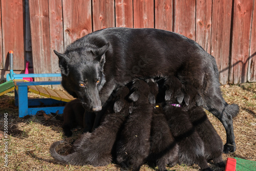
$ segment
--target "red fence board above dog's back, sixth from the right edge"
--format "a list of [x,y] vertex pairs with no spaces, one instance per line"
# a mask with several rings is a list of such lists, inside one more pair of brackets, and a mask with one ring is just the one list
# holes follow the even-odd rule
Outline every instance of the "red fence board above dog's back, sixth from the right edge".
[[173,31],[173,0],[155,0],[155,28]]

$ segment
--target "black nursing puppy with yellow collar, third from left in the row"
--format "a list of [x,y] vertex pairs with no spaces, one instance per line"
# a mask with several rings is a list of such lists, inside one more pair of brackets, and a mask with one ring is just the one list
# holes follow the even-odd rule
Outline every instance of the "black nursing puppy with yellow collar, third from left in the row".
[[[147,84],[151,88],[151,93],[157,98],[158,84],[154,80],[148,80]],[[162,88],[160,88],[162,89]],[[155,105],[155,104],[153,104]],[[151,147],[147,162],[156,163],[160,171],[166,170],[166,165],[174,166],[178,162],[178,144],[168,126],[161,106],[155,106],[151,122]]]

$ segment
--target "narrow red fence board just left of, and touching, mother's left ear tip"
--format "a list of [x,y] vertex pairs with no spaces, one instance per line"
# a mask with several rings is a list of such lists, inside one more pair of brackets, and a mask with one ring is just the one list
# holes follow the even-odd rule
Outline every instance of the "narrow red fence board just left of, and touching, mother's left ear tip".
[[[62,3],[61,0],[49,1],[49,24],[50,24],[50,52],[52,73],[60,73],[58,57],[53,50],[62,53],[64,51]],[[60,80],[60,77],[52,80]]]

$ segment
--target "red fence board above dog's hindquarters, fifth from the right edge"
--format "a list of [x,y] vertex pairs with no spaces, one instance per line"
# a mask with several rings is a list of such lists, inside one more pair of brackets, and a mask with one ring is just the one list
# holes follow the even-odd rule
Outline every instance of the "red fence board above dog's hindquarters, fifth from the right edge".
[[174,1],[174,31],[190,39],[196,39],[196,0]]

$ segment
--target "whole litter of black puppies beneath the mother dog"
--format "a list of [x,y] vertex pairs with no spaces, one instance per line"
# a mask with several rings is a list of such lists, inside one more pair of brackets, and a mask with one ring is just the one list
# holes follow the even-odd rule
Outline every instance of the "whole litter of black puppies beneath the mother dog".
[[[60,141],[51,145],[50,153],[56,161],[93,166],[114,162],[132,170],[148,163],[162,171],[166,165],[176,164],[198,164],[203,170],[211,170],[207,161],[212,160],[225,167],[223,142],[192,85],[181,83],[175,76],[134,79],[112,94],[99,126],[83,133],[74,142],[71,154],[63,156],[55,151]],[[77,121],[85,111],[77,100],[68,103],[65,111],[62,127],[65,135],[71,136],[72,127],[81,124]],[[72,120],[72,116],[80,119]]]

